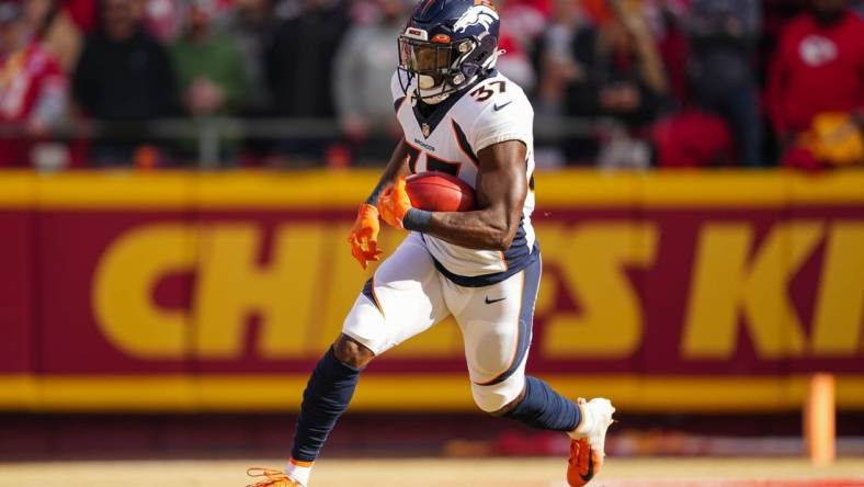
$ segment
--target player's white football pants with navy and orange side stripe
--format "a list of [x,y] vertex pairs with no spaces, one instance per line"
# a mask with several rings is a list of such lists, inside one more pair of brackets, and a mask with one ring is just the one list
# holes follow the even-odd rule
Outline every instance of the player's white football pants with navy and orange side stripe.
[[380,355],[453,315],[475,403],[494,412],[525,387],[541,267],[538,258],[497,284],[463,287],[435,269],[422,237],[411,233],[366,283],[342,332]]

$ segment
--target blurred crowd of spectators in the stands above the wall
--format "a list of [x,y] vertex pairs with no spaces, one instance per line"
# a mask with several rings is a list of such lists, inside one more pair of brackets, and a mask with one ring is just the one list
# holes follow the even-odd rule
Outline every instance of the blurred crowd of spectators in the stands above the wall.
[[[534,101],[539,166],[864,166],[864,1],[497,5],[498,68]],[[154,122],[224,118],[331,121],[241,131],[218,141],[224,165],[384,163],[412,8],[0,0],[0,168],[196,165],[200,139]]]

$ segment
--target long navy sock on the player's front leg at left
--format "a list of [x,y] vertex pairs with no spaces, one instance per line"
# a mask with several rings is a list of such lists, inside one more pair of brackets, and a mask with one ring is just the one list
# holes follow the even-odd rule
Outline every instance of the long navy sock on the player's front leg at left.
[[337,419],[348,409],[360,372],[360,369],[337,359],[330,347],[315,367],[303,393],[292,457],[300,462],[315,462]]

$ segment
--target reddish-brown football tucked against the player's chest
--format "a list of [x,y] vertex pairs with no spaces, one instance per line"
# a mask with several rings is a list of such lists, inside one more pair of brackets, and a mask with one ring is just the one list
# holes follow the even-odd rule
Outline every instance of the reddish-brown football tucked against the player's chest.
[[429,212],[467,212],[475,208],[474,188],[445,172],[421,172],[406,180],[405,190],[416,208]]

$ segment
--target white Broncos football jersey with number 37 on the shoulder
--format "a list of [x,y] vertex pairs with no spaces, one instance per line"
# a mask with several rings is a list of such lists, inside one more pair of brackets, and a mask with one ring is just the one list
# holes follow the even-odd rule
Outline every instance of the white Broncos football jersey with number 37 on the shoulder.
[[407,94],[391,80],[396,116],[405,133],[411,173],[440,171],[476,188],[477,152],[493,144],[521,140],[527,148],[528,194],[516,236],[505,252],[477,250],[423,235],[439,271],[456,284],[482,286],[503,281],[537,258],[531,213],[534,211],[534,110],[516,83],[497,71],[468,90],[451,94],[431,116],[416,107],[413,86]]

